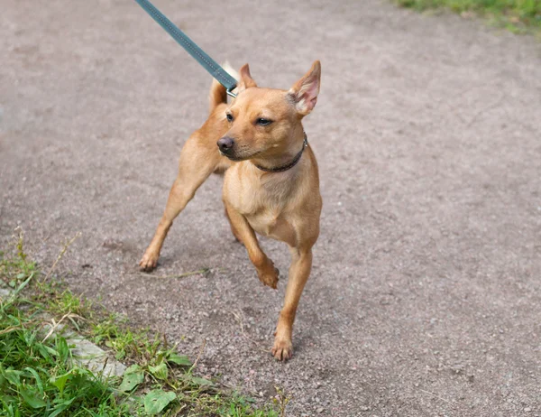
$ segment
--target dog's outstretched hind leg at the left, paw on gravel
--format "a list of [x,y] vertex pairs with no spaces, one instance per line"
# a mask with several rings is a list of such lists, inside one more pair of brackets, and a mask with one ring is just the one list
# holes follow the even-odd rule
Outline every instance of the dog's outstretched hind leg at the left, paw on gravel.
[[[192,134],[180,153],[179,175],[170,190],[165,211],[152,238],[151,244],[142,255],[139,266],[151,271],[158,264],[161,246],[173,220],[194,197],[199,186],[214,171],[220,171],[225,158],[220,156],[215,143],[209,144],[198,132]],[[224,169],[226,167],[223,167]]]

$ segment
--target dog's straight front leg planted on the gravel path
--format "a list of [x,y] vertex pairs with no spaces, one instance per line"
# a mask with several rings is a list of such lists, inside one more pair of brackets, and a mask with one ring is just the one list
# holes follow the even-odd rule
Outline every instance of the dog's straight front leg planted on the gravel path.
[[284,307],[280,311],[280,318],[274,334],[274,346],[272,347],[272,355],[278,360],[286,360],[293,355],[293,344],[291,342],[293,321],[295,321],[300,294],[302,294],[312,269],[311,248],[299,250],[292,247],[290,252],[292,259],[291,266],[289,266],[286,299]]

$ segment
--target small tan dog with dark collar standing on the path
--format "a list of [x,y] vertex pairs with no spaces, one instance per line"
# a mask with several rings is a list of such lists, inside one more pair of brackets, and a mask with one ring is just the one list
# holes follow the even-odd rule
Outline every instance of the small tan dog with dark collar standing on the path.
[[173,219],[211,173],[225,171],[225,214],[261,283],[276,289],[279,272],[261,251],[254,231],[289,245],[289,282],[272,347],[279,360],[289,359],[293,352],[293,321],[319,235],[317,163],[301,121],[316,106],[320,76],[316,61],[289,91],[258,88],[246,64],[231,105],[225,88],[213,83],[210,116],[182,148],[179,176],[140,262],[146,271],[156,266]]

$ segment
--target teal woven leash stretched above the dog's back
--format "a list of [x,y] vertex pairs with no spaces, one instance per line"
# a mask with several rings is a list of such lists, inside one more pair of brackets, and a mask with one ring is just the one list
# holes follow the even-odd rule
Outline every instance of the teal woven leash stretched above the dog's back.
[[179,43],[201,66],[207,70],[220,84],[225,87],[227,95],[236,97],[233,90],[236,87],[236,79],[234,79],[227,71],[220,67],[215,60],[206,55],[205,51],[197,46],[195,42],[188,38],[186,33],[182,32],[175,24],[173,24],[165,15],[161,14],[154,5],[148,0],[135,0],[151,15],[160,26],[168,32],[171,37]]

